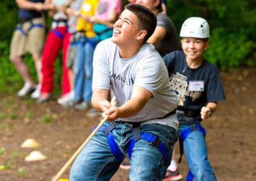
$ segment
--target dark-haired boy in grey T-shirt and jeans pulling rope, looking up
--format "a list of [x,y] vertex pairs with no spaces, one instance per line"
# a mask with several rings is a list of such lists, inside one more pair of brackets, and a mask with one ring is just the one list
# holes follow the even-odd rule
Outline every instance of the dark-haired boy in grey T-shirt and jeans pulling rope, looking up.
[[[70,181],[110,180],[124,157],[130,157],[130,180],[162,180],[179,126],[178,98],[166,66],[147,43],[156,15],[140,4],[128,4],[93,55],[92,106],[106,118],[76,157]],[[116,105],[108,101],[109,91]]]

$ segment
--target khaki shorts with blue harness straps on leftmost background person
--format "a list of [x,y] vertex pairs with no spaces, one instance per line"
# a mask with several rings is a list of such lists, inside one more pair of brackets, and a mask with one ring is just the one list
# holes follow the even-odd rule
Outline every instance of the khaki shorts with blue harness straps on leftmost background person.
[[[32,24],[41,24],[42,27],[31,27]],[[22,29],[22,31],[20,31]],[[44,18],[34,18],[23,24],[18,24],[15,29],[10,45],[10,59],[20,57],[29,52],[31,54],[41,54],[45,40],[45,20]]]

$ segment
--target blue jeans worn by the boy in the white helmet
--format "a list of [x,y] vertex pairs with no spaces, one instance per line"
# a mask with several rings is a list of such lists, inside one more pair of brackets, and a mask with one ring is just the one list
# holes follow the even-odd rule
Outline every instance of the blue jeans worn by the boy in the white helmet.
[[[191,124],[180,124],[178,134],[180,135],[182,130],[189,126]],[[207,158],[207,146],[202,131],[192,131],[184,140],[183,145],[188,168],[196,180],[217,180]]]

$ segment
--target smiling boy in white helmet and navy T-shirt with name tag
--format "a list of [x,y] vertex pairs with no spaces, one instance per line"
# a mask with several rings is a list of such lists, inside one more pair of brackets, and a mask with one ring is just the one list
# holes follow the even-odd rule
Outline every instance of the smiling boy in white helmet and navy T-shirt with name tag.
[[178,134],[189,167],[187,180],[216,180],[200,124],[211,117],[217,102],[225,99],[218,69],[203,57],[209,47],[209,24],[204,18],[190,17],[183,23],[180,37],[183,51],[171,52],[163,59],[179,97]]

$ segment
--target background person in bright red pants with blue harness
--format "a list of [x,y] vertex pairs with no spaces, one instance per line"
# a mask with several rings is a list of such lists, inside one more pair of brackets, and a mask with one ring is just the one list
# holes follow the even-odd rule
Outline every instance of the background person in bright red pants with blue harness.
[[54,89],[54,62],[62,48],[62,96],[70,92],[68,80],[68,69],[66,65],[67,47],[71,34],[68,33],[65,9],[72,3],[70,0],[47,0],[45,6],[49,15],[53,18],[51,30],[47,34],[44,49],[42,52],[42,87],[38,102],[49,101],[52,99]]

